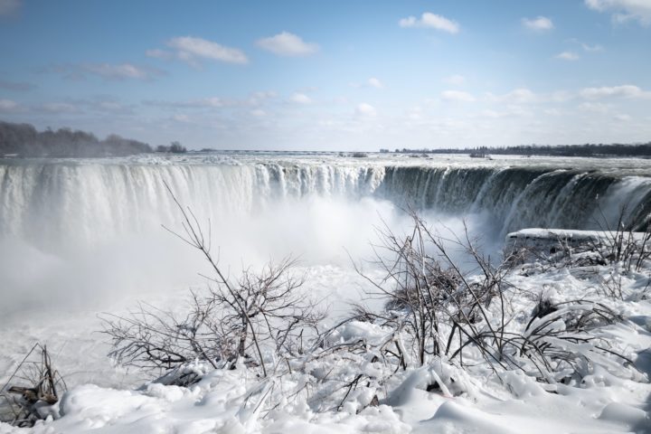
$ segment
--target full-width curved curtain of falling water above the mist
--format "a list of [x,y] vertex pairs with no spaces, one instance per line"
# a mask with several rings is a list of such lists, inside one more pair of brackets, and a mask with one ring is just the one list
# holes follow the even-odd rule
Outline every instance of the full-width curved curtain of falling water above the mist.
[[481,212],[502,235],[525,227],[595,229],[601,213],[612,222],[625,203],[632,225],[651,212],[646,176],[546,166],[18,161],[0,164],[0,236],[48,246],[159,227],[178,216],[165,183],[213,222],[311,197],[371,197],[455,216]]

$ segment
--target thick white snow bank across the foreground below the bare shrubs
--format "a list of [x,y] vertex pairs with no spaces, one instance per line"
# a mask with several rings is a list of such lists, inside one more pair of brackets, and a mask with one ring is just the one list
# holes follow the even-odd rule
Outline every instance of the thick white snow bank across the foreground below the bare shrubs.
[[[509,234],[514,242],[547,246],[559,240],[591,243],[602,236],[593,231],[540,229]],[[564,326],[554,318],[572,310],[588,311],[594,304],[617,316],[616,322],[595,325],[592,337],[627,360],[603,354],[586,358],[580,378],[559,373],[557,380],[541,382],[534,372],[495,372],[480,357],[467,360],[463,368],[455,361],[436,358],[394,373],[384,385],[385,398],[373,403],[369,394],[373,389],[360,387],[337,407],[327,401],[331,399],[327,393],[319,394],[330,388],[325,392],[339,393],[336,401],[344,394],[344,384],[325,382],[330,373],[344,373],[348,378],[364,373],[373,379],[386,367],[344,354],[311,360],[303,372],[261,379],[243,365],[227,371],[197,364],[201,380],[188,387],[162,382],[147,382],[137,390],[78,385],[52,409],[56,419],[40,421],[33,429],[0,424],[0,433],[651,433],[648,273],[648,269],[626,272],[612,265],[585,269],[528,263],[506,276],[519,291],[510,300],[513,321],[509,330],[540,325],[541,319],[533,312],[541,299],[552,300],[556,306],[577,299],[583,303],[547,316],[554,330]],[[605,297],[600,292],[604,278],[613,276],[620,278],[623,297]],[[330,344],[362,340],[369,345],[388,338],[382,326],[363,321],[348,322],[328,337]],[[568,348],[578,354],[590,352],[584,343],[568,344]],[[260,410],[269,394],[274,394],[268,401],[274,406]]]

